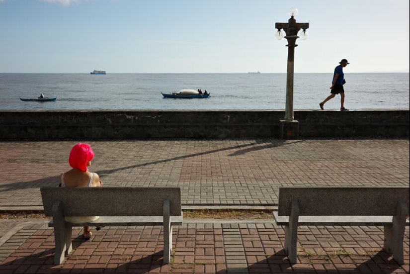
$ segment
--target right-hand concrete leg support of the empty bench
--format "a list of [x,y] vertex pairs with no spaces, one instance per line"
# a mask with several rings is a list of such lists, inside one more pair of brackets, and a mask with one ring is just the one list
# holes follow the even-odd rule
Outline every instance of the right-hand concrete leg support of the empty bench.
[[397,213],[393,216],[393,224],[384,226],[383,249],[393,255],[393,259],[400,265],[404,264],[403,240],[406,228],[407,204],[399,201]]

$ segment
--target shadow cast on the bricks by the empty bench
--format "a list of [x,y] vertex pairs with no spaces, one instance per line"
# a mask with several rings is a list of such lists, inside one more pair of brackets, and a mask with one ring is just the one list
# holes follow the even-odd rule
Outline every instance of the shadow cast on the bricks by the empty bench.
[[[299,264],[290,264],[285,250],[280,250],[274,255],[267,257],[266,259],[259,261],[255,264],[249,265],[249,274],[252,273],[317,273],[317,274],[327,274],[332,273],[343,273],[343,274],[353,274],[353,273],[396,273],[397,270],[402,269],[400,266],[388,253],[384,250],[380,250],[376,254],[372,255],[336,255],[328,256],[330,259],[324,259],[326,256],[313,255],[310,258],[305,256],[298,256]],[[337,261],[341,263],[332,263],[332,258],[338,257]],[[351,257],[353,260],[344,260],[344,257]],[[370,257],[370,258],[369,258]],[[354,263],[356,262],[360,263]],[[366,260],[366,261],[364,261]],[[324,261],[328,261],[329,269],[324,267]],[[347,262],[349,261],[349,262]],[[315,265],[318,267],[315,268]],[[309,267],[307,267],[309,266]],[[403,270],[405,271],[405,270]]]

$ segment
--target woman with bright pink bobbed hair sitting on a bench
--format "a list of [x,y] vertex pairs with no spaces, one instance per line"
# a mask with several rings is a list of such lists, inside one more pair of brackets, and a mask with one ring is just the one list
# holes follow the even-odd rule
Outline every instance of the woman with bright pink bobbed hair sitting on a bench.
[[[91,187],[102,186],[98,174],[91,173],[88,168],[91,165],[91,160],[94,157],[94,152],[87,144],[78,143],[70,152],[69,164],[73,168],[68,172],[60,175],[61,186],[65,187]],[[72,223],[92,222],[98,219],[99,216],[76,216],[66,217],[66,221]],[[92,233],[88,226],[84,226],[84,239],[89,240]]]

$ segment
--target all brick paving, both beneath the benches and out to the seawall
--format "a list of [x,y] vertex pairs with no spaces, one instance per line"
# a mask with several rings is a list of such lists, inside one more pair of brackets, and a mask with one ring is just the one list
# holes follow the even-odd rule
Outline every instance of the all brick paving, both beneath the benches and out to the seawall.
[[[281,185],[409,185],[408,139],[89,143],[104,185],[180,186],[184,205],[272,205]],[[41,208],[39,187],[57,184],[74,144],[1,142],[0,209]],[[300,227],[295,265],[271,221],[185,219],[165,266],[161,227],[107,227],[89,242],[73,233],[73,253],[54,266],[53,230],[19,227],[0,238],[0,274],[409,273],[408,228],[402,266],[382,251],[382,227]]]

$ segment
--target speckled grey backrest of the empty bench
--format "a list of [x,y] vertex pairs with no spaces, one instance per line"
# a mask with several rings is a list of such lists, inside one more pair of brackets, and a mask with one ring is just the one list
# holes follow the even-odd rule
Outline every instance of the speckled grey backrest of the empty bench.
[[301,216],[393,216],[407,203],[409,186],[279,187],[278,215],[290,215],[297,200]]

